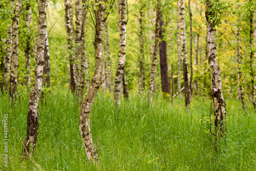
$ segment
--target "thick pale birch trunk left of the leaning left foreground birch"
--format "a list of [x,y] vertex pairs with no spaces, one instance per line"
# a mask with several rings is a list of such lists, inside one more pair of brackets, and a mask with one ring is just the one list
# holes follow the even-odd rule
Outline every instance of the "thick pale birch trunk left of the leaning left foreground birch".
[[18,82],[18,24],[19,15],[22,11],[22,0],[16,1],[14,16],[12,17],[12,58],[11,58],[11,77],[10,77],[10,101],[16,99]]

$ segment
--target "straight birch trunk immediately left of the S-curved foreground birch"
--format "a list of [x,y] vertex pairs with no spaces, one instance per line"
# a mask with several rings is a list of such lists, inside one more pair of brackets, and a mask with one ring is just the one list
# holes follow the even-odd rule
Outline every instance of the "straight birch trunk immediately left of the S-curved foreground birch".
[[76,98],[79,102],[83,100],[83,90],[84,90],[84,80],[83,71],[81,67],[81,18],[82,18],[82,7],[81,0],[75,1],[75,10],[76,10],[76,30],[75,30],[75,57],[76,57]]

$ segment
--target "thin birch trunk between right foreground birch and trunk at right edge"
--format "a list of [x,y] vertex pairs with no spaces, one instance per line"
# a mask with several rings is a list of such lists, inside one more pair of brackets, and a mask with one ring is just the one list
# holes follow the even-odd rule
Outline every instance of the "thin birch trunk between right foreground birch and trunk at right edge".
[[240,53],[240,29],[237,27],[237,65],[238,65],[238,94],[239,99],[242,103],[242,108],[246,111],[245,103],[244,103],[244,91],[241,83],[242,71],[241,71],[241,53]]

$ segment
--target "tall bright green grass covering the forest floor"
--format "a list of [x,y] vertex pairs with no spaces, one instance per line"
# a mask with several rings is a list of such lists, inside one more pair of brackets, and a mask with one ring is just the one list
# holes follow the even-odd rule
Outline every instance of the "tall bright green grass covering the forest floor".
[[[7,170],[37,170],[30,159],[19,160],[26,136],[29,94],[19,92],[11,108],[8,95],[0,93],[0,101],[9,121]],[[149,108],[146,96],[134,93],[130,100],[121,99],[119,115],[113,95],[99,93],[91,114],[91,132],[100,158],[94,165],[88,163],[82,145],[75,99],[67,89],[56,88],[45,103],[39,103],[40,125],[33,159],[41,170],[256,170],[256,116],[252,106],[244,113],[238,100],[226,98],[226,103],[226,145],[219,144],[215,153],[214,137],[207,127],[212,111],[210,98],[194,96],[191,109],[186,111],[184,100],[178,97],[172,105],[155,96]],[[0,170],[4,169],[3,123]]]

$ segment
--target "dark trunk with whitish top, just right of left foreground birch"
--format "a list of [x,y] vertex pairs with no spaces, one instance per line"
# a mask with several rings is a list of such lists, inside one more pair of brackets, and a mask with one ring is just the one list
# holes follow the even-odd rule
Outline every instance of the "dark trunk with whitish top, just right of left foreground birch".
[[50,54],[49,54],[49,39],[46,29],[46,42],[45,42],[45,63],[44,63],[44,83],[49,88],[50,87]]

